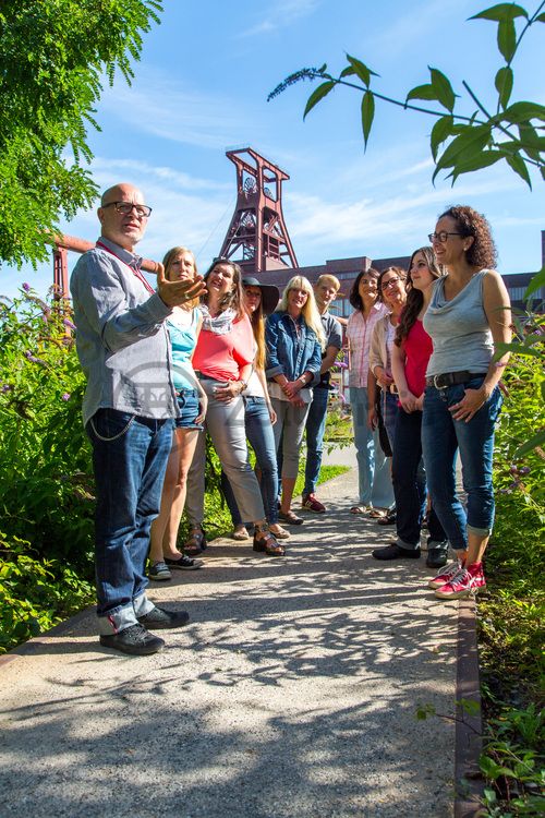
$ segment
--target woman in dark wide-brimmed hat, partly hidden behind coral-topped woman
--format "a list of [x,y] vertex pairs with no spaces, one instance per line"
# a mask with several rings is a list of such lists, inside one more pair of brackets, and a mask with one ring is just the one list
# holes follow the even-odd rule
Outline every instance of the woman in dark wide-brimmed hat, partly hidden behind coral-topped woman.
[[[263,505],[269,530],[277,539],[288,539],[288,531],[278,522],[278,469],[276,459],[275,433],[276,413],[270,402],[265,377],[265,314],[271,313],[278,304],[279,292],[274,285],[261,284],[257,278],[244,276],[242,279],[245,294],[245,308],[252,322],[255,341],[254,370],[247,386],[242,393],[244,400],[244,423],[246,437],[254,449],[258,480],[262,489]],[[247,540],[244,525],[231,484],[221,472],[221,488],[233,521],[233,539]]]

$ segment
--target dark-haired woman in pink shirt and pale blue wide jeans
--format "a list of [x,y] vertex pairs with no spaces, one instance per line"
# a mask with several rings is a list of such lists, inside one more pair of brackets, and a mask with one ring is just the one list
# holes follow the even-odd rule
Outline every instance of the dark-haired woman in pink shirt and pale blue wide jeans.
[[377,299],[379,273],[374,267],[362,270],[350,292],[354,312],[348,320],[347,337],[350,348],[349,388],[352,407],[354,445],[358,453],[359,503],[351,514],[366,514],[373,508],[388,508],[393,502],[390,467],[378,440],[378,431],[367,423],[370,351],[373,329],[386,315],[385,305]]

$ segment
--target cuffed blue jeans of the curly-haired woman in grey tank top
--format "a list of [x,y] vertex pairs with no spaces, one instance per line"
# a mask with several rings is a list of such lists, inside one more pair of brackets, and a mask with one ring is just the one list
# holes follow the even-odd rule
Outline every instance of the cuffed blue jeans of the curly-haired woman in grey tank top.
[[[422,420],[422,447],[432,503],[456,551],[468,548],[468,531],[487,537],[494,525],[492,458],[494,430],[501,408],[496,386],[486,404],[465,423],[455,420],[449,407],[465,389],[479,389],[484,377],[436,389],[426,387]],[[456,455],[460,449],[462,482],[468,495],[465,512],[456,494]]]

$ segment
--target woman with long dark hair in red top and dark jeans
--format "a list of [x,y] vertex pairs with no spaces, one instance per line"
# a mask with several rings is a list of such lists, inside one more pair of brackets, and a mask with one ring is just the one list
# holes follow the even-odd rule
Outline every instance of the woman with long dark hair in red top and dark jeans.
[[[420,248],[409,264],[407,303],[396,329],[391,370],[398,388],[399,407],[393,434],[391,477],[396,495],[397,542],[375,549],[375,560],[420,556],[420,534],[426,509],[426,480],[422,468],[422,407],[432,339],[422,320],[432,289],[443,270],[432,248]],[[432,506],[428,516],[426,565],[440,568],[447,563],[448,541]]]

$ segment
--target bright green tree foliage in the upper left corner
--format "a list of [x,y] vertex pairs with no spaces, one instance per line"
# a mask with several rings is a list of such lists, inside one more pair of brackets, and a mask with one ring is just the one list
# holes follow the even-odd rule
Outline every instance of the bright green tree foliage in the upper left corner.
[[84,167],[102,82],[128,83],[161,0],[3,0],[0,260],[36,264],[46,238],[97,194]]

